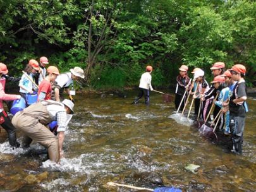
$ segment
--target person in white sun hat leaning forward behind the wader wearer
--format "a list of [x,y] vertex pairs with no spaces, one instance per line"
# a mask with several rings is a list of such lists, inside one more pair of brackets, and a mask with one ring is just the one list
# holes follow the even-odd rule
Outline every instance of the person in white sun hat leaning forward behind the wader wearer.
[[85,78],[83,69],[79,67],[70,69],[70,72],[58,75],[52,85],[52,99],[60,101],[61,99],[63,99],[63,91],[66,90],[66,93],[68,93],[70,100],[74,102],[72,97],[72,95],[75,95],[73,80],[78,80],[78,78]]

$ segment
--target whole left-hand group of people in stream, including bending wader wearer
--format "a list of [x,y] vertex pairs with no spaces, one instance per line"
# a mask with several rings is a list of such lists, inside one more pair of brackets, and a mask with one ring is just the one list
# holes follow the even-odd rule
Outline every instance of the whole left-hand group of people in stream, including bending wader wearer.
[[[70,69],[68,73],[59,74],[56,66],[49,66],[46,69],[48,63],[47,57],[40,57],[39,63],[35,59],[30,59],[19,79],[20,95],[10,95],[4,92],[6,77],[11,77],[7,75],[6,64],[0,63],[0,125],[8,133],[11,147],[20,147],[20,143],[16,140],[15,128],[20,129],[24,134],[23,147],[29,147],[32,140],[39,142],[47,148],[49,159],[59,162],[64,153],[64,131],[70,120],[67,114],[73,114],[72,95],[75,95],[73,80],[85,76],[83,69],[79,67]],[[70,85],[72,90],[69,89]],[[64,89],[70,100],[61,98]],[[28,104],[29,94],[38,95],[35,104]],[[21,100],[21,97],[26,101],[26,108],[16,112],[11,120],[4,111],[3,101]],[[52,121],[57,121],[57,136],[49,128],[45,128]]]

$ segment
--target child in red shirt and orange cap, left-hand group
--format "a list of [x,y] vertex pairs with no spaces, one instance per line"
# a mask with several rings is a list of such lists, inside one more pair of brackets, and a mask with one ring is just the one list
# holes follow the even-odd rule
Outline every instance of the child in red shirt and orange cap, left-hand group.
[[51,92],[52,92],[52,85],[51,83],[54,82],[59,75],[59,69],[55,66],[49,66],[47,68],[47,76],[39,85],[38,91],[38,101],[42,100],[49,100],[51,99]]

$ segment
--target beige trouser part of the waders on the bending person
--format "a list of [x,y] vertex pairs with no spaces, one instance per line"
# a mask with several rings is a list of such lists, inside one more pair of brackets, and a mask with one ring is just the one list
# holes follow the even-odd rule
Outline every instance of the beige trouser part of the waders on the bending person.
[[[47,114],[46,114],[47,115]],[[26,136],[32,140],[39,142],[40,145],[44,146],[48,150],[49,159],[58,163],[59,156],[59,141],[58,138],[39,122],[39,119],[27,116],[18,112],[11,121],[16,129],[20,129]],[[25,143],[30,142],[29,138],[25,137]]]

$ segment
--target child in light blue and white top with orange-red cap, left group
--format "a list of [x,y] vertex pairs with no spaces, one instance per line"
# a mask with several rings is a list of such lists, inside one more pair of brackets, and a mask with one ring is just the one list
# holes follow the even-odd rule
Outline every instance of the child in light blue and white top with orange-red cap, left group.
[[[27,76],[30,76],[30,78],[33,80],[33,74],[39,71],[39,64],[34,59],[31,59],[26,68],[25,73],[27,73]],[[27,78],[25,74],[21,76],[21,80],[19,83],[20,86],[20,95],[23,97],[23,99],[26,100],[27,93],[33,93],[33,89],[36,90],[33,83]]]

